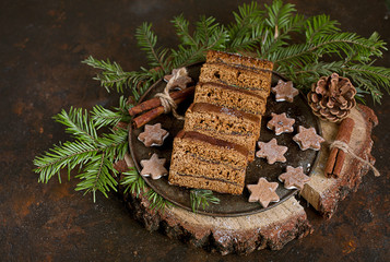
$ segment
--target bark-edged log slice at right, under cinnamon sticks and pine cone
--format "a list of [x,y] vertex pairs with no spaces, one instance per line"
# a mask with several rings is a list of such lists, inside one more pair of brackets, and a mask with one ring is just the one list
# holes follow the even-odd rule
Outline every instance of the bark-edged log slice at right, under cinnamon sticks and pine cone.
[[[359,157],[367,159],[373,165],[375,158],[370,155],[373,147],[371,130],[378,124],[374,111],[363,105],[352,109],[348,116],[355,121],[348,146]],[[332,142],[338,133],[338,124],[321,121],[322,136]],[[368,166],[346,155],[339,178],[327,178],[324,166],[329,156],[329,148],[321,147],[320,159],[315,167],[310,181],[305,184],[302,195],[324,217],[330,218],[338,207],[338,203],[350,192],[355,192],[362,182],[362,177],[368,172]]]

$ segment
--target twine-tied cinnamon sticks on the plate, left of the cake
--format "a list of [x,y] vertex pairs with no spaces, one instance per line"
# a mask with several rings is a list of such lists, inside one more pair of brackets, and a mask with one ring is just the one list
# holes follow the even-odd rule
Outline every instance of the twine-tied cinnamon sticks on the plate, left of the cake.
[[[172,92],[169,96],[174,99],[176,105],[178,105],[193,93],[194,86],[189,86],[185,90]],[[129,114],[132,117],[141,114],[140,116],[133,118],[133,126],[138,129],[164,114],[164,110],[165,109],[161,99],[158,97],[154,97],[130,108]]]

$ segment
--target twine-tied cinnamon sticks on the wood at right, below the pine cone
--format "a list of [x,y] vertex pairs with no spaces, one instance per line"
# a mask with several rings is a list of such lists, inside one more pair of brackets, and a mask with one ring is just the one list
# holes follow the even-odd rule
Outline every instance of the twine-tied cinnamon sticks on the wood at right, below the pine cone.
[[[338,134],[335,136],[336,141],[341,141],[343,143],[350,143],[352,130],[355,126],[355,121],[352,118],[345,118],[340,127]],[[345,160],[345,152],[333,147],[329,154],[329,158],[327,162],[327,166],[324,169],[324,174],[327,177],[340,177],[341,169],[343,168]]]

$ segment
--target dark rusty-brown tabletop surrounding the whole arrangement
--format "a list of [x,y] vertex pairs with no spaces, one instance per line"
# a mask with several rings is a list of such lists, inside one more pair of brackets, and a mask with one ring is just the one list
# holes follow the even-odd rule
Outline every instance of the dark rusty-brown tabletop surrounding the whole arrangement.
[[[380,122],[373,155],[382,176],[369,172],[330,221],[307,209],[315,233],[280,251],[209,253],[146,231],[115,194],[98,194],[93,203],[73,190],[76,179],[37,183],[34,156],[69,139],[51,116],[72,105],[116,106],[117,96],[107,95],[81,60],[93,55],[137,70],[146,62],[133,36],[142,22],[152,22],[159,43],[173,46],[174,15],[229,23],[243,2],[249,1],[0,1],[0,261],[388,261],[389,95],[382,105],[368,99]],[[366,37],[377,31],[390,43],[385,0],[289,2],[303,14],[327,13],[345,31]],[[377,64],[390,67],[390,53]]]

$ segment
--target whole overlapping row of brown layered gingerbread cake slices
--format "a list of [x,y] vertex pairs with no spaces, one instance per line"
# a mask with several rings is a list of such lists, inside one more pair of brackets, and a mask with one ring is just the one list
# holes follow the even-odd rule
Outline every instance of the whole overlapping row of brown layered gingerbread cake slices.
[[172,184],[243,193],[270,94],[272,67],[270,61],[208,52],[184,130],[174,140]]

